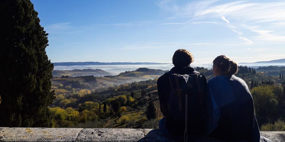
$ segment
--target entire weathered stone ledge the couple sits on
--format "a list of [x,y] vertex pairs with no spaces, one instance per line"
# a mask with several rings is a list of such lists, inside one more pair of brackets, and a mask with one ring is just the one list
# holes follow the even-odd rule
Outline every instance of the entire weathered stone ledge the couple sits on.
[[[261,131],[260,134],[274,142],[285,142],[285,131]],[[172,141],[159,129],[105,129],[105,128],[7,128],[0,127],[0,141],[56,142],[56,141]],[[217,140],[207,140],[217,141]]]

